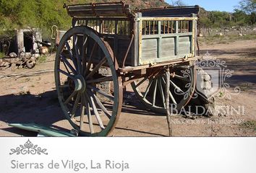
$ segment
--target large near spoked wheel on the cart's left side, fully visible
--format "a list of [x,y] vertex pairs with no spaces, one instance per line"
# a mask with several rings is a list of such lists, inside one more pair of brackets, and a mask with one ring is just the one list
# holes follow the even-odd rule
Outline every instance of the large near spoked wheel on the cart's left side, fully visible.
[[[65,117],[81,136],[107,136],[114,128],[122,104],[117,69],[111,47],[94,30],[73,27],[62,37],[56,89]],[[110,83],[114,89],[107,87]]]

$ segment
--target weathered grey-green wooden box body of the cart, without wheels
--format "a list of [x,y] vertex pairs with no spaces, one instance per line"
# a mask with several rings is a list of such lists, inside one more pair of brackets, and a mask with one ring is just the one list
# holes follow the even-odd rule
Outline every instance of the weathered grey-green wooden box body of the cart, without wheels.
[[67,6],[72,26],[98,32],[111,45],[120,68],[194,58],[198,11],[198,6],[186,6],[131,12],[121,2]]

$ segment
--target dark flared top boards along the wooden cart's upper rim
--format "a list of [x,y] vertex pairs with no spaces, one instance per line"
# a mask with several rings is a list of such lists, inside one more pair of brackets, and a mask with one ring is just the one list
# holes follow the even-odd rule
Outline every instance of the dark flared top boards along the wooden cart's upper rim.
[[168,6],[151,9],[135,9],[123,2],[74,4],[67,6],[71,17],[135,17],[141,13],[142,17],[191,17],[200,12],[200,6]]

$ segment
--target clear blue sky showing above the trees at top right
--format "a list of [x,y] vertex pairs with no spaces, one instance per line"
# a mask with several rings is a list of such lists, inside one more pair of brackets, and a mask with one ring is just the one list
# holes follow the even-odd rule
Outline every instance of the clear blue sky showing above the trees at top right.
[[[174,0],[175,1],[175,0]],[[183,0],[186,5],[199,5],[208,11],[233,12],[234,6],[237,6],[241,0]],[[172,4],[171,0],[166,0]]]

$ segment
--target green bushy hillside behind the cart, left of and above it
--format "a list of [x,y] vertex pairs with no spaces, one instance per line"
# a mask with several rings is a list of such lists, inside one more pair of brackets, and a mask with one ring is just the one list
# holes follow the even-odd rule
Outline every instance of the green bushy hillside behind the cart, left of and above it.
[[[117,0],[111,0],[117,1]],[[67,15],[63,4],[85,4],[95,2],[109,2],[108,0],[1,0],[0,1],[0,37],[11,35],[7,31],[22,27],[39,27],[44,37],[49,37],[51,26],[67,30],[71,25],[71,17]],[[132,9],[144,9],[156,6],[168,6],[163,1],[154,0],[124,0],[131,4]]]

